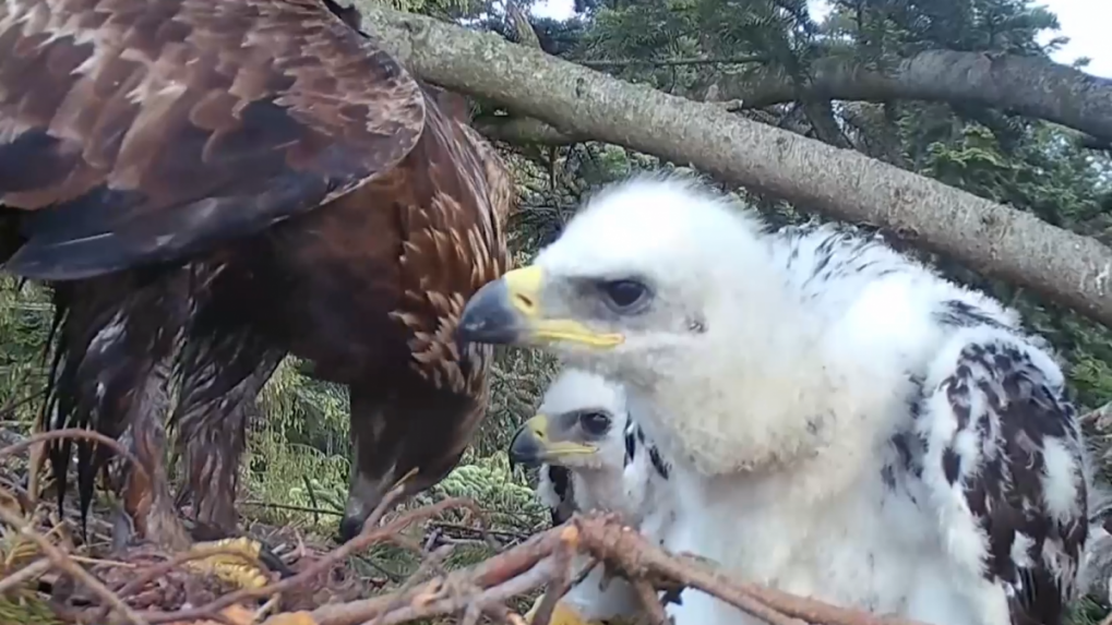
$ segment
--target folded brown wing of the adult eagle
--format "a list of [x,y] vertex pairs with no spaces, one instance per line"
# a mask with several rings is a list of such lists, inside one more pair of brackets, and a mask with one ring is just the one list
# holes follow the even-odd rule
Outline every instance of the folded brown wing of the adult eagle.
[[321,0],[0,3],[6,268],[172,261],[311,210],[420,137],[417,82]]

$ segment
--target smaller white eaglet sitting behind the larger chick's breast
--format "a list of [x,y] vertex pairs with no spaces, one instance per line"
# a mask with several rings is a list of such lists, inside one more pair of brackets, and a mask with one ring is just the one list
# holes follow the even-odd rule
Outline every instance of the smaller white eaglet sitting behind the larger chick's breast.
[[[655,458],[648,470],[637,459],[638,450],[645,463]],[[658,508],[669,502],[668,467],[633,426],[622,387],[589,371],[566,368],[553,380],[538,414],[514,434],[509,458],[512,464],[539,467],[537,494],[552,509],[554,525],[575,512],[596,509],[619,513],[632,527],[647,517],[656,528],[667,517]],[[577,558],[575,568],[587,559]],[[538,605],[539,599],[528,621]],[[552,622],[596,623],[635,616],[639,609],[632,586],[620,578],[604,581],[603,567],[596,566],[559,601]]]

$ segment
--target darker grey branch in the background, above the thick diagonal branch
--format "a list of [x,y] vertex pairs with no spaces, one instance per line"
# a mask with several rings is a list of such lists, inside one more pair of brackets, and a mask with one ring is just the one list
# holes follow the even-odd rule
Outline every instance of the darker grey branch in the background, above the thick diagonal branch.
[[850,59],[821,59],[813,80],[800,88],[782,77],[733,77],[719,98],[746,108],[788,102],[801,96],[833,100],[931,100],[973,103],[1045,119],[1112,142],[1112,80],[1048,59],[927,50],[880,71]]

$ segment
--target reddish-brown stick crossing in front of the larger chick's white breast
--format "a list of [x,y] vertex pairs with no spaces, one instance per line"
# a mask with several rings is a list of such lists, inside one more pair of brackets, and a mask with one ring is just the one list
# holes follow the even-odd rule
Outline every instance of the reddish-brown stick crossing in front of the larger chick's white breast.
[[617,563],[635,577],[646,573],[668,577],[686,586],[714,595],[734,607],[774,625],[788,625],[790,618],[826,625],[924,625],[898,617],[878,617],[866,612],[833,606],[756,584],[729,579],[692,558],[679,558],[646,540],[639,533],[623,526],[613,515],[576,515],[583,543],[599,557]]

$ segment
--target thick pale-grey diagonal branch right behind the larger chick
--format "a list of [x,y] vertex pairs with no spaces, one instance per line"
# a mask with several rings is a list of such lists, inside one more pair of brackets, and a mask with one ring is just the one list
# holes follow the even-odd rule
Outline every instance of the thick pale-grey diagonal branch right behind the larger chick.
[[629,85],[494,34],[361,8],[368,29],[426,80],[565,132],[689,162],[833,218],[893,229],[1112,326],[1112,250],[1093,239],[721,106]]

